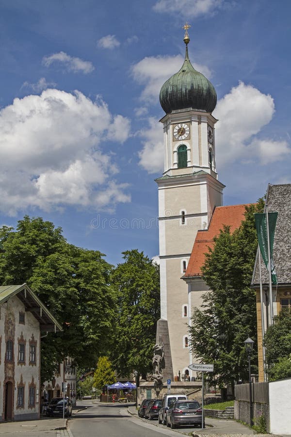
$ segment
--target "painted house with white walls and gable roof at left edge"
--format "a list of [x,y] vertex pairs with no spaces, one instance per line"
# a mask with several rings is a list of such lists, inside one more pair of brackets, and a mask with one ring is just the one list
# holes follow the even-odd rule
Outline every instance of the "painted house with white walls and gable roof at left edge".
[[27,284],[0,286],[0,421],[39,419],[41,332],[57,331]]

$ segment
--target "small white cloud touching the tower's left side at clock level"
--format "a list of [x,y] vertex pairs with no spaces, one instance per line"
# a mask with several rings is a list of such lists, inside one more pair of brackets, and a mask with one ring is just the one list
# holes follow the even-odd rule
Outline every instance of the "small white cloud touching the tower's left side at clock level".
[[149,118],[148,124],[149,128],[139,132],[144,138],[139,164],[150,174],[159,173],[163,171],[164,158],[162,124],[155,118]]

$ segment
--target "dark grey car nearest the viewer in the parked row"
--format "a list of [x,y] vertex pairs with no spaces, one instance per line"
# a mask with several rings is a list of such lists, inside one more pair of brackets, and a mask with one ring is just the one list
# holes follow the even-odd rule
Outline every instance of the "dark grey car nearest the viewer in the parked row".
[[[171,403],[166,413],[167,426],[199,425],[202,427],[202,409],[198,401],[175,401]],[[203,423],[205,427],[205,423]]]

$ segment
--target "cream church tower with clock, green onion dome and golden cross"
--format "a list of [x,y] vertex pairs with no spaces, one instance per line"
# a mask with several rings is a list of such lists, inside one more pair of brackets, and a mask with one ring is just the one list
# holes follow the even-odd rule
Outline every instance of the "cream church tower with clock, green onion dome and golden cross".
[[163,85],[160,102],[166,115],[160,120],[164,137],[164,171],[156,179],[159,190],[159,241],[162,338],[166,368],[163,382],[179,372],[191,377],[188,341],[188,286],[185,273],[196,233],[207,229],[215,206],[222,205],[224,185],[218,181],[212,115],[216,92],[210,81],[191,65],[189,25],[185,25],[186,55],[178,73]]

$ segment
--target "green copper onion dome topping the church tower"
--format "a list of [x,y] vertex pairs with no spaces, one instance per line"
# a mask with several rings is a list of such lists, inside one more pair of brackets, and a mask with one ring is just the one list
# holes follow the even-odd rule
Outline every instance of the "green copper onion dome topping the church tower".
[[162,85],[160,103],[166,114],[188,108],[211,113],[216,106],[215,88],[202,73],[192,66],[187,43],[184,64],[178,73]]

